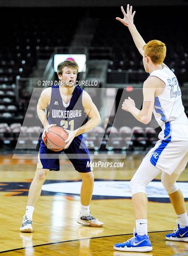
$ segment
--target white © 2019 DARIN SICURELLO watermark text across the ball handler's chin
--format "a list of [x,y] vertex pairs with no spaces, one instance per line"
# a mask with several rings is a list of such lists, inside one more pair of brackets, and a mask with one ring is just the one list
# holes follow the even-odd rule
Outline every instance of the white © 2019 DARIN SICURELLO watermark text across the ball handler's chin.
[[81,81],[47,81],[47,80],[38,80],[37,81],[37,85],[38,86],[55,86],[55,85],[59,85],[59,86],[70,86],[70,84],[72,84],[72,86],[97,86],[98,85],[98,81],[89,81],[89,80],[81,80]]

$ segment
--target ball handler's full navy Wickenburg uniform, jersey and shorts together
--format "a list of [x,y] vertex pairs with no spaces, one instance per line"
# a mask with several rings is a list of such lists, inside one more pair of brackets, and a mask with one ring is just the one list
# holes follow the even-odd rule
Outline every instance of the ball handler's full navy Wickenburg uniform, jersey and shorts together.
[[[47,110],[49,124],[56,124],[67,130],[76,130],[81,127],[88,119],[82,105],[82,92],[83,90],[76,86],[73,90],[72,98],[66,104],[60,95],[59,86],[53,86],[51,88],[51,100]],[[90,153],[82,134],[76,136],[68,148],[58,152],[48,149],[43,139],[41,139],[37,168],[59,171],[59,154],[62,151],[64,151],[72,162],[75,170],[79,172],[92,171],[92,168],[88,166],[88,162],[91,161]]]

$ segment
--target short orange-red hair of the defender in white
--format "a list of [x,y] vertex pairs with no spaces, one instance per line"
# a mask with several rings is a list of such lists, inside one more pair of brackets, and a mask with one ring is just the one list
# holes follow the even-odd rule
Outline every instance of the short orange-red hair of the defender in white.
[[166,56],[167,47],[159,40],[151,40],[143,46],[144,55],[150,57],[154,64],[162,64]]

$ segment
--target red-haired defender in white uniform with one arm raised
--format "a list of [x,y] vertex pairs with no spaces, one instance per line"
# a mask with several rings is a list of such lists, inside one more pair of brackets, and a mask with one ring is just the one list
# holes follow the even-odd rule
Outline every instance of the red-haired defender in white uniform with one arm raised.
[[138,121],[148,124],[154,117],[161,126],[158,142],[144,157],[133,176],[130,187],[133,210],[136,219],[136,232],[133,238],[117,243],[114,249],[128,252],[149,252],[152,250],[147,234],[147,196],[146,186],[162,173],[162,184],[169,194],[178,218],[178,227],[166,239],[188,242],[188,216],[184,197],[176,184],[179,175],[188,162],[188,119],[184,112],[181,90],[175,74],[163,63],[166,46],[158,40],[147,44],[133,23],[135,11],[127,5],[127,13],[121,7],[124,18],[116,18],[128,27],[137,49],[143,56],[145,71],[150,76],[143,85],[143,107],[140,111],[134,100],[128,97],[122,109],[130,112]]

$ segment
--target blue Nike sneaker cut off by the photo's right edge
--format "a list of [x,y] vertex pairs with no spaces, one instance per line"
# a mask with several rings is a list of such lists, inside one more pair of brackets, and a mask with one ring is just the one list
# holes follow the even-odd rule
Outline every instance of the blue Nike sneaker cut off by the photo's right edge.
[[188,226],[181,228],[178,224],[173,233],[166,235],[166,239],[171,241],[188,242]]

